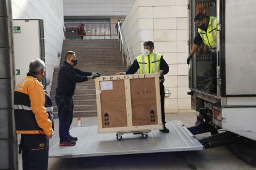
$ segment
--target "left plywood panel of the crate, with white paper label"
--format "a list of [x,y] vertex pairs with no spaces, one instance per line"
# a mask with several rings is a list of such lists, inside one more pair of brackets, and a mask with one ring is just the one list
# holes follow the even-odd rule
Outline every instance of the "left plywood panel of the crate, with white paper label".
[[102,127],[127,126],[124,79],[110,82],[113,83],[113,89],[102,90],[103,87],[100,87]]

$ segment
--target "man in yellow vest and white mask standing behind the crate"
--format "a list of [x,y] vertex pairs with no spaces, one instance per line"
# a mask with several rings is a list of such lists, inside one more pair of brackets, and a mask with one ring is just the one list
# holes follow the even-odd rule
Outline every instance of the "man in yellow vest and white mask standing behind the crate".
[[139,70],[140,74],[155,73],[155,71],[161,71],[160,73],[160,95],[161,95],[161,117],[163,121],[163,129],[160,130],[164,133],[169,133],[169,129],[165,126],[165,115],[164,115],[164,76],[169,72],[169,66],[163,59],[163,55],[153,52],[154,42],[145,41],[143,43],[144,54],[139,55],[134,60],[134,63],[127,68],[124,72],[119,72],[116,75],[132,75]]

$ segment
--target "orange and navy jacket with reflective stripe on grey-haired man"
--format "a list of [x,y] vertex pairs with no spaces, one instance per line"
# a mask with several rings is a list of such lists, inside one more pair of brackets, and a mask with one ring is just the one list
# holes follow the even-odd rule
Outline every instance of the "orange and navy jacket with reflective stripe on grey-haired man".
[[15,87],[14,116],[17,134],[53,133],[51,99],[32,73]]

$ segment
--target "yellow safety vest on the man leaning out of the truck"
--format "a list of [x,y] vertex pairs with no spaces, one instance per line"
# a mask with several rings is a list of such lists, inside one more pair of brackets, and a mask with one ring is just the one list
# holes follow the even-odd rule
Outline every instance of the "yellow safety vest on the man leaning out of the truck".
[[203,31],[202,29],[198,28],[198,33],[200,33],[201,38],[203,39],[203,42],[207,44],[210,49],[216,48],[217,43],[217,20],[216,17],[209,18],[209,24],[207,27],[207,33]]

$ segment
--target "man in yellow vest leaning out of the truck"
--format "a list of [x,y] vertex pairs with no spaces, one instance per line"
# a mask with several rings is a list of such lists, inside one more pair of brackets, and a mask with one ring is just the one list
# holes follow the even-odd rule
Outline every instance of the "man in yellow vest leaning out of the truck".
[[194,38],[192,49],[187,57],[187,64],[190,63],[192,56],[197,51],[197,48],[202,44],[206,44],[211,51],[211,69],[213,73],[213,84],[215,88],[212,92],[216,91],[216,44],[217,44],[217,20],[216,17],[207,16],[202,13],[195,15],[194,22],[198,26],[198,34]]

